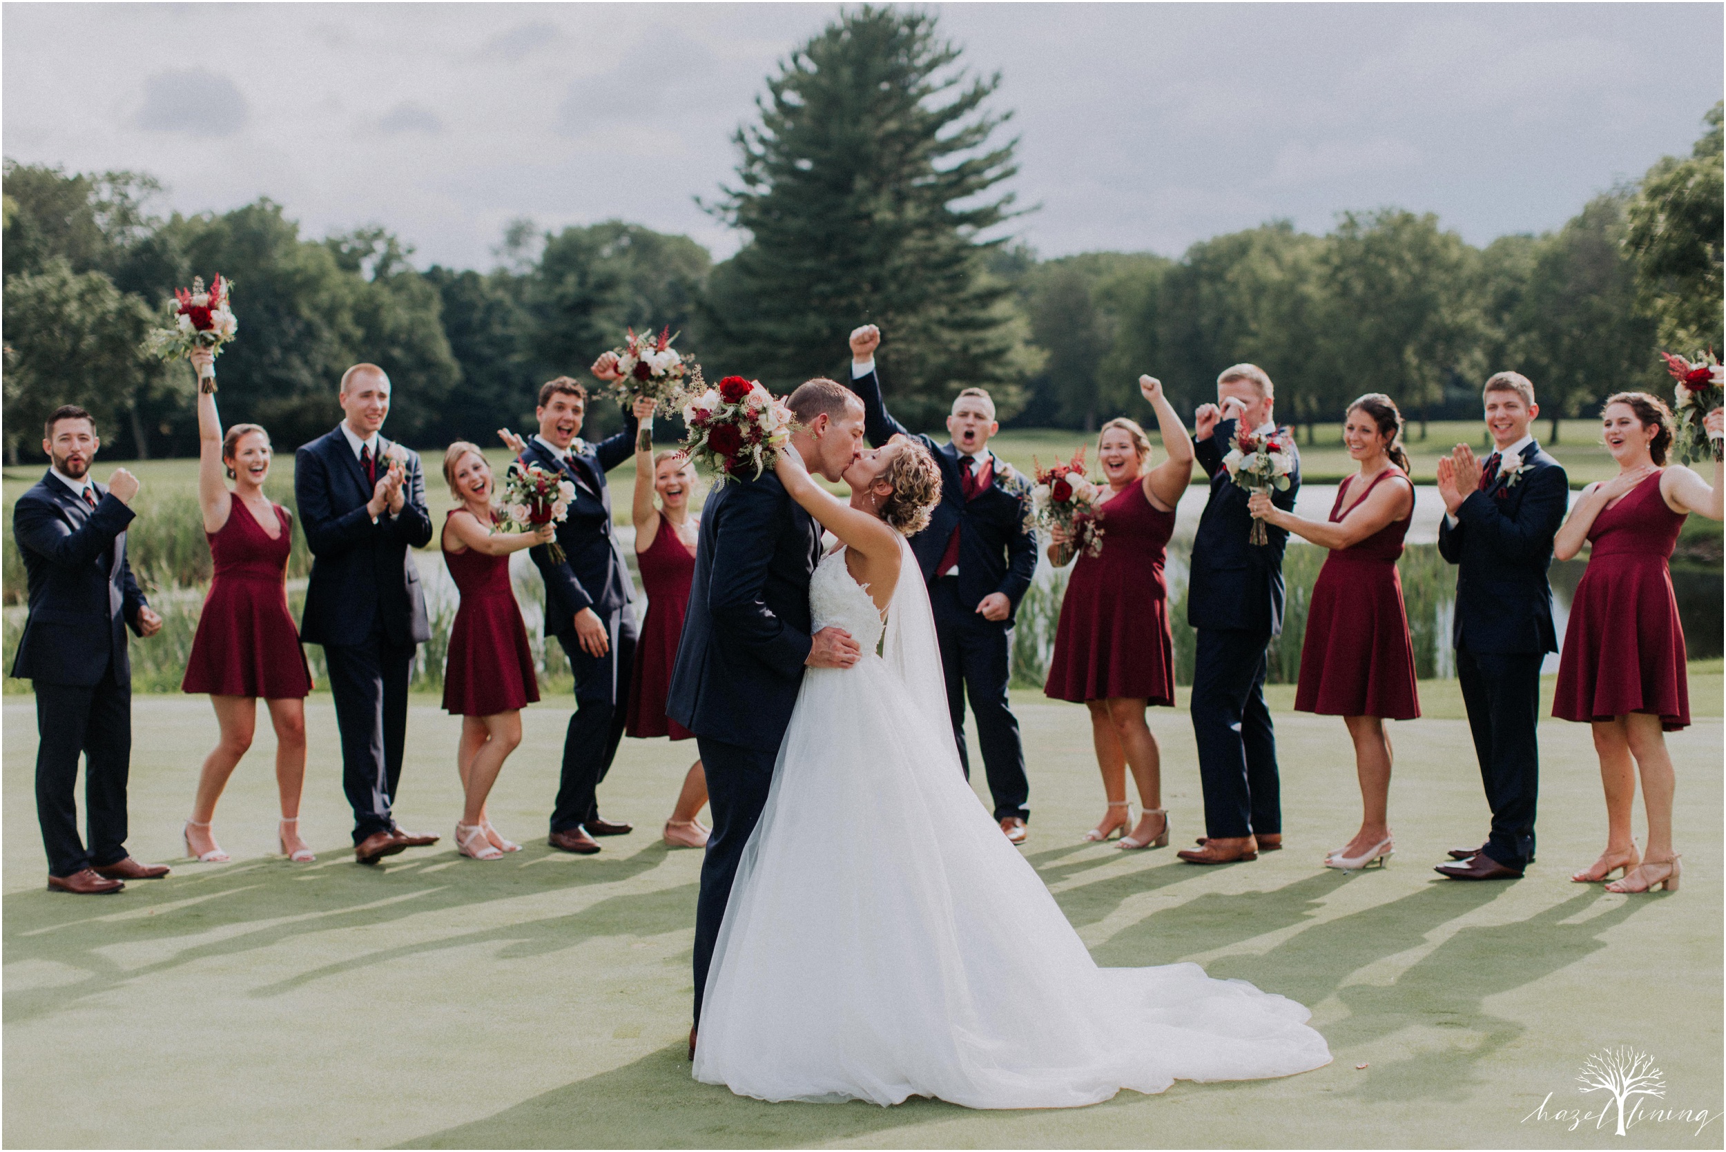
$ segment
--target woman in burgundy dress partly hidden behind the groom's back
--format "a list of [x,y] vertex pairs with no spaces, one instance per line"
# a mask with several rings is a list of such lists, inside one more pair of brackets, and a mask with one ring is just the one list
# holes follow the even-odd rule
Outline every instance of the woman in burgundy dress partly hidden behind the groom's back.
[[[647,619],[635,642],[630,712],[623,731],[642,738],[690,740],[696,733],[665,714],[665,698],[677,664],[677,642],[683,635],[689,581],[696,576],[701,517],[689,510],[689,498],[696,491],[696,466],[675,448],[654,454],[651,445],[652,416],[642,421],[635,450],[635,502],[630,516],[635,521],[635,564],[647,592]],[[659,507],[654,507],[654,493],[659,495]],[[706,802],[708,776],[697,759],[683,776],[671,819],[665,823],[668,845],[706,847],[708,830],[696,819]]]

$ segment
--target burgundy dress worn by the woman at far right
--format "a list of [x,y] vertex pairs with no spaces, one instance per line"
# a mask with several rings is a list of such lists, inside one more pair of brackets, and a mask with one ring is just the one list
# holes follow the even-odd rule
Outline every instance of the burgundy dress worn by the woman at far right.
[[1685,519],[1660,497],[1655,473],[1590,524],[1588,569],[1559,655],[1559,719],[1652,712],[1666,731],[1690,724],[1685,626],[1667,567]]

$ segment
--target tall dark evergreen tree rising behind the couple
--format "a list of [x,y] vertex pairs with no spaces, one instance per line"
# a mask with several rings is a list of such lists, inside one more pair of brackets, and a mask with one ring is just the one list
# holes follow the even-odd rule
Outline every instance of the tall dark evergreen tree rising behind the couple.
[[[1011,216],[998,185],[1017,140],[935,17],[865,5],[811,38],[768,79],[759,122],[739,129],[739,183],[715,214],[749,233],[715,269],[713,369],[789,388],[842,371],[846,333],[880,324],[896,410],[922,423],[954,391],[1011,402],[1027,366],[1010,286],[986,267]],[[1003,404],[1001,407],[1010,407]]]

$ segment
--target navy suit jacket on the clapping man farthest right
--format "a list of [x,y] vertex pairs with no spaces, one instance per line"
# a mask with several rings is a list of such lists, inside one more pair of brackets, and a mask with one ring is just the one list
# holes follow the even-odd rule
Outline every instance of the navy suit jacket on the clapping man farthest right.
[[1457,571],[1452,640],[1469,652],[1559,650],[1552,626],[1552,538],[1571,505],[1564,467],[1538,443],[1522,448],[1531,466],[1515,483],[1500,469],[1486,491],[1457,507],[1457,526],[1438,526],[1438,552]]

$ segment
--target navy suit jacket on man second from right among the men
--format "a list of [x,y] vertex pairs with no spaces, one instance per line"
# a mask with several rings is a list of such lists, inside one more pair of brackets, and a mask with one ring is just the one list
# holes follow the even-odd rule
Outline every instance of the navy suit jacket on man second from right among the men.
[[[1288,436],[1294,467],[1289,469],[1286,491],[1272,491],[1270,502],[1284,510],[1294,510],[1300,491],[1300,450],[1294,436]],[[1222,467],[1234,441],[1234,421],[1217,421],[1205,440],[1193,440],[1198,462],[1210,476],[1210,498],[1198,519],[1193,540],[1193,569],[1187,579],[1187,623],[1193,628],[1262,631],[1282,635],[1282,550],[1289,535],[1282,528],[1265,526],[1270,543],[1255,545],[1248,540],[1253,516],[1246,510],[1251,497],[1229,479]]]

